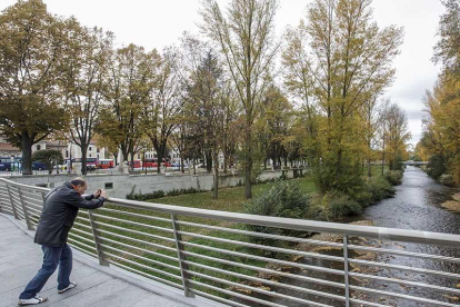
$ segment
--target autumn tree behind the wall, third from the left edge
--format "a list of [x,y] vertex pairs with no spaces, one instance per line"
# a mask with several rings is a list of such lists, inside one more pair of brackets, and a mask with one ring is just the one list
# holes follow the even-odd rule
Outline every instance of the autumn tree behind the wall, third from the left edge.
[[143,133],[142,111],[150,101],[156,51],[144,52],[143,47],[129,44],[112,52],[107,103],[101,107],[97,131],[110,138],[123,155],[122,161],[133,152]]

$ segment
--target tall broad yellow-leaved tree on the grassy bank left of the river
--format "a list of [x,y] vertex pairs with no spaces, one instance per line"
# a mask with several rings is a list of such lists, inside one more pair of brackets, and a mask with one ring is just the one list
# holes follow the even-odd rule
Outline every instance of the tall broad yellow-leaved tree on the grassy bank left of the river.
[[[314,0],[308,8],[307,22],[299,30],[308,36],[300,43],[291,38],[290,75],[298,76],[294,88],[309,93],[321,113],[316,169],[321,189],[346,191],[359,178],[364,136],[360,132],[359,111],[391,85],[392,59],[399,53],[402,29],[382,30],[372,22],[370,0]],[[309,55],[303,59],[303,55]],[[299,76],[299,71],[303,76]],[[308,73],[308,75],[307,75]],[[307,87],[307,88],[306,88]]]

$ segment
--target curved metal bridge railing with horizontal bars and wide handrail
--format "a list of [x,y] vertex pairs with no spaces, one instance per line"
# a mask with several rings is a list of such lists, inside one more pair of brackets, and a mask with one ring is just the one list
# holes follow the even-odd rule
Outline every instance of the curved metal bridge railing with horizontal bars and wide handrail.
[[[0,209],[33,230],[48,191],[0,179]],[[458,235],[109,198],[69,244],[229,306],[460,306]]]

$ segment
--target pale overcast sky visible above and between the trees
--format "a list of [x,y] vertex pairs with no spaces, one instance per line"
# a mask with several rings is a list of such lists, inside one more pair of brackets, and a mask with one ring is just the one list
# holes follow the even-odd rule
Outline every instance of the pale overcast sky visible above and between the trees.
[[[16,0],[0,0],[0,10]],[[84,26],[98,26],[114,32],[119,44],[136,43],[161,50],[178,42],[183,31],[198,32],[200,0],[44,0],[48,10],[60,16],[74,16]],[[226,3],[227,0],[220,0]],[[280,0],[277,31],[297,26],[304,17],[309,0]],[[401,55],[394,61],[397,78],[386,92],[408,113],[411,142],[420,139],[423,117],[422,96],[431,89],[439,68],[431,62],[439,17],[440,0],[373,0],[374,20],[380,27],[404,27]]]

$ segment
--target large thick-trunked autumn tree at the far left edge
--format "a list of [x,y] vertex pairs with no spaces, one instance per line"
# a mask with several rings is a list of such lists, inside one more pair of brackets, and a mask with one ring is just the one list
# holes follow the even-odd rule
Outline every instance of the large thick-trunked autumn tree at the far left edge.
[[22,174],[32,174],[32,145],[64,129],[58,81],[66,22],[41,0],[18,1],[0,14],[0,129],[22,150]]

